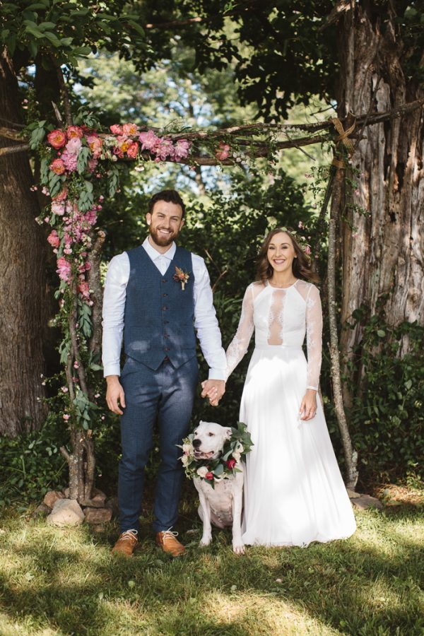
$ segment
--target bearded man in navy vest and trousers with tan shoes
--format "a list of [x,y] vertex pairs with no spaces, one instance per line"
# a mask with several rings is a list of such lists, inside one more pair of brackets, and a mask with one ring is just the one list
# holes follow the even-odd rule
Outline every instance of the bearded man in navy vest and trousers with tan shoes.
[[[184,225],[175,190],[155,194],[148,206],[149,235],[110,261],[103,300],[102,361],[107,406],[121,418],[119,462],[121,534],[113,552],[131,556],[138,543],[144,467],[158,422],[160,466],[155,492],[156,543],[177,556],[184,546],[172,531],[182,485],[181,450],[187,435],[198,366],[196,337],[209,368],[203,395],[225,391],[225,353],[204,259],[175,244]],[[126,360],[120,371],[124,335]]]

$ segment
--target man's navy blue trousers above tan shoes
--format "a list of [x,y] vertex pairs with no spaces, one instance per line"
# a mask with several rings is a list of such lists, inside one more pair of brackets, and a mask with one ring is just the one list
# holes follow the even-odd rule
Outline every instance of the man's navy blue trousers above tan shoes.
[[139,529],[144,468],[153,444],[156,420],[160,435],[160,466],[155,492],[155,532],[177,521],[183,478],[179,457],[187,435],[199,377],[196,358],[175,369],[164,360],[153,371],[127,358],[121,384],[126,408],[121,418],[122,459],[119,462],[118,500],[121,532]]

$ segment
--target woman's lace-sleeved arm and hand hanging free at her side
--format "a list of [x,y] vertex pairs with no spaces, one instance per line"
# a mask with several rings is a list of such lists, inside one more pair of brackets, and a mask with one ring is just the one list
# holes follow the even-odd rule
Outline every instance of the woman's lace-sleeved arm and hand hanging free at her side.
[[317,391],[322,358],[322,307],[319,290],[310,286],[306,298],[307,387],[300,405],[300,419],[311,420],[317,412]]

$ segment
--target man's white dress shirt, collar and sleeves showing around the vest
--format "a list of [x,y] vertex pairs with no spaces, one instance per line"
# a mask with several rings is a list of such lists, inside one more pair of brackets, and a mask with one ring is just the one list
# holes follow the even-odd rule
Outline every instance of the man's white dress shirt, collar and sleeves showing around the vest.
[[[162,275],[167,271],[174,258],[177,246],[174,242],[165,254],[160,254],[148,238],[143,242],[148,256]],[[221,335],[213,307],[213,295],[205,261],[192,254],[194,273],[194,329],[199,338],[201,351],[209,366],[209,379],[225,379],[227,361],[221,343]],[[103,295],[103,375],[121,375],[120,357],[122,334],[124,331],[124,312],[126,285],[129,280],[129,258],[126,252],[113,257],[107,270],[105,292]]]

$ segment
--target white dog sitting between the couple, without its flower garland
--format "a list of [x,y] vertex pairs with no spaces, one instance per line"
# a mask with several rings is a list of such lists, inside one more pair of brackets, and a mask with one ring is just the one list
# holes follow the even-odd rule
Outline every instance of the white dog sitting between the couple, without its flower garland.
[[[218,459],[224,444],[231,438],[231,428],[213,422],[200,422],[194,431],[192,444],[196,459]],[[203,521],[203,536],[200,545],[208,546],[212,540],[211,523],[218,528],[232,526],[232,550],[244,554],[242,541],[242,497],[244,473],[242,464],[237,462],[240,472],[222,479],[212,488],[206,480],[194,478],[199,493],[199,517]]]

